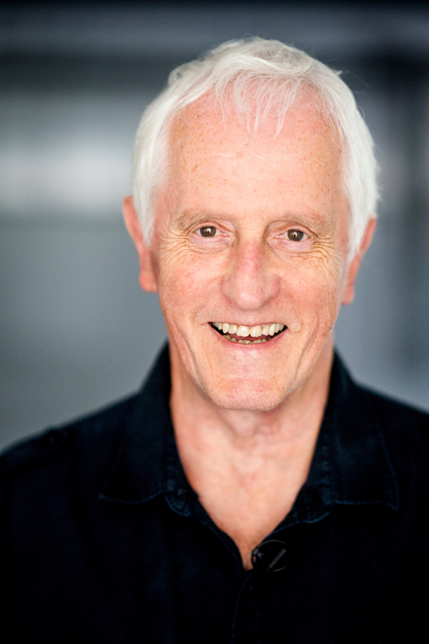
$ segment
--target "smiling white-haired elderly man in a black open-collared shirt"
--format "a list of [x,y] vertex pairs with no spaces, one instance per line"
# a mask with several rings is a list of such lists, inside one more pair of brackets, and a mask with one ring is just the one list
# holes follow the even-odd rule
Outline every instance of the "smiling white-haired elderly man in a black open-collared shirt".
[[429,417],[333,350],[375,169],[303,52],[170,75],[123,206],[168,348],[137,395],[3,455],[4,641],[426,641]]

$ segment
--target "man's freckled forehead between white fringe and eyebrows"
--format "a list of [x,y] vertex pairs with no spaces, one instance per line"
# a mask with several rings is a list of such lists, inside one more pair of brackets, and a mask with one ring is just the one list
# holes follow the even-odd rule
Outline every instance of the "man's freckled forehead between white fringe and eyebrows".
[[[301,99],[253,130],[232,108],[222,118],[203,97],[187,106],[171,129],[170,181],[183,207],[228,211],[309,208],[331,213],[341,193],[343,151],[331,121],[315,100]],[[251,203],[249,202],[251,196]],[[247,200],[249,203],[244,203]],[[185,203],[186,202],[186,203]]]

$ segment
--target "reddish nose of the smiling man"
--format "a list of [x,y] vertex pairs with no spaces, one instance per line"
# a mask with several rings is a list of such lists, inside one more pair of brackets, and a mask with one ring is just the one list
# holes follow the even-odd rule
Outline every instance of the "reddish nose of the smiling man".
[[224,294],[243,311],[258,310],[278,291],[278,278],[269,270],[267,251],[257,242],[241,242],[233,252]]

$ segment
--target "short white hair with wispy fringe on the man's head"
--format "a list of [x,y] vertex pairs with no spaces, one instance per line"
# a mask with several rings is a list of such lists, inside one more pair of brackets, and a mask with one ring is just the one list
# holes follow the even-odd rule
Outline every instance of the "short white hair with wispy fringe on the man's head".
[[255,129],[275,109],[278,132],[297,94],[308,90],[316,93],[345,147],[343,191],[349,202],[352,256],[378,199],[369,129],[339,71],[279,41],[256,37],[221,44],[201,59],[176,68],[167,88],[143,113],[134,146],[132,193],[145,242],[151,239],[154,192],[167,178],[169,125],[175,114],[203,95],[214,96],[221,106],[228,96],[239,113],[251,113]]

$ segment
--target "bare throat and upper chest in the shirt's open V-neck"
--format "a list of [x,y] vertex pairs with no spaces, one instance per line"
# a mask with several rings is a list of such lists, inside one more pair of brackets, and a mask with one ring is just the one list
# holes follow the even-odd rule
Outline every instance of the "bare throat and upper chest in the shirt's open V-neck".
[[244,569],[251,568],[253,549],[295,503],[316,437],[317,428],[295,440],[270,433],[238,441],[215,429],[193,435],[176,429],[188,482],[214,524],[237,545]]

